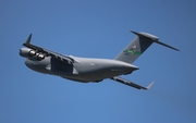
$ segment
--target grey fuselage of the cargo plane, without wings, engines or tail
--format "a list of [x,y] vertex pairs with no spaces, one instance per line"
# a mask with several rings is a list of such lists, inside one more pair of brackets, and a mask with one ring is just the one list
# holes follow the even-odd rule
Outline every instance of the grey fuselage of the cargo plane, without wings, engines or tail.
[[74,59],[73,64],[59,62],[51,57],[46,57],[41,61],[34,61],[27,58],[25,64],[36,72],[58,75],[63,78],[83,83],[100,82],[105,78],[130,74],[138,70],[135,65],[118,60],[71,58]]

